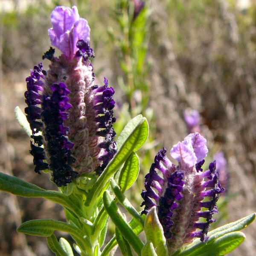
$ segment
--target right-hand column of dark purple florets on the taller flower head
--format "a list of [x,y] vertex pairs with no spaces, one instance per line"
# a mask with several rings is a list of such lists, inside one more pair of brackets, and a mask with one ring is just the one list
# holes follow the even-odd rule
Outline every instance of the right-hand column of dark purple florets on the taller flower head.
[[99,127],[97,135],[105,138],[99,144],[99,147],[104,149],[104,154],[99,157],[99,160],[102,160],[103,163],[96,169],[96,172],[101,174],[117,151],[116,142],[113,141],[116,136],[116,132],[113,129],[113,123],[116,122],[116,118],[113,117],[113,108],[115,106],[113,94],[115,91],[112,87],[108,87],[108,79],[104,78],[104,85],[95,87],[94,92],[94,110],[97,116],[94,121],[98,123]]

